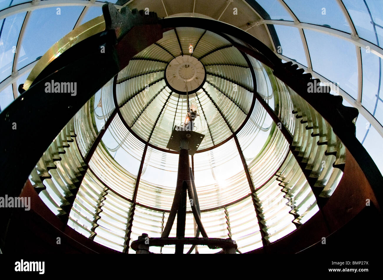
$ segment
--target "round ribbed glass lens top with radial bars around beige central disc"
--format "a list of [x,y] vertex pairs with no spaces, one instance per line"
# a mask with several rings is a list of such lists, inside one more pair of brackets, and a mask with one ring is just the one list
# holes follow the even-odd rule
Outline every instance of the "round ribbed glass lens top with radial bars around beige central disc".
[[129,129],[166,149],[174,126],[185,122],[185,81],[199,115],[194,130],[205,135],[198,150],[223,142],[246,120],[253,81],[241,52],[210,31],[176,28],[137,54],[118,75],[117,100]]

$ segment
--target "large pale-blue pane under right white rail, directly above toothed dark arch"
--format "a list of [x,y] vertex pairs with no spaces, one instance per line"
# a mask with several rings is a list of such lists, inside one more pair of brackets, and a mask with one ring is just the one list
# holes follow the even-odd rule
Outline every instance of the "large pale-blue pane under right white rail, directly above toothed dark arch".
[[305,30],[313,70],[338,83],[339,87],[357,99],[358,69],[355,46],[324,33]]

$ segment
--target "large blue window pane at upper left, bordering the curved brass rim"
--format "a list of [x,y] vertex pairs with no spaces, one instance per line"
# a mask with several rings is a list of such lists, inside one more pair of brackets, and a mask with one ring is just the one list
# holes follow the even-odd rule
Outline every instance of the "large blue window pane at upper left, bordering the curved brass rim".
[[[60,9],[60,10],[57,10]],[[35,61],[75,26],[83,7],[53,7],[34,10],[21,45],[17,69]]]

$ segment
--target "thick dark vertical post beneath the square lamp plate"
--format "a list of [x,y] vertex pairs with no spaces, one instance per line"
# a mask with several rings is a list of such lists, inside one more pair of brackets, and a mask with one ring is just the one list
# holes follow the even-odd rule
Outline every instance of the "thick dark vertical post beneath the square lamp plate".
[[[190,181],[188,140],[182,139],[178,158],[178,176],[176,190],[181,192],[177,211],[177,237],[185,237],[187,184]],[[183,254],[183,244],[175,246],[176,254]]]

